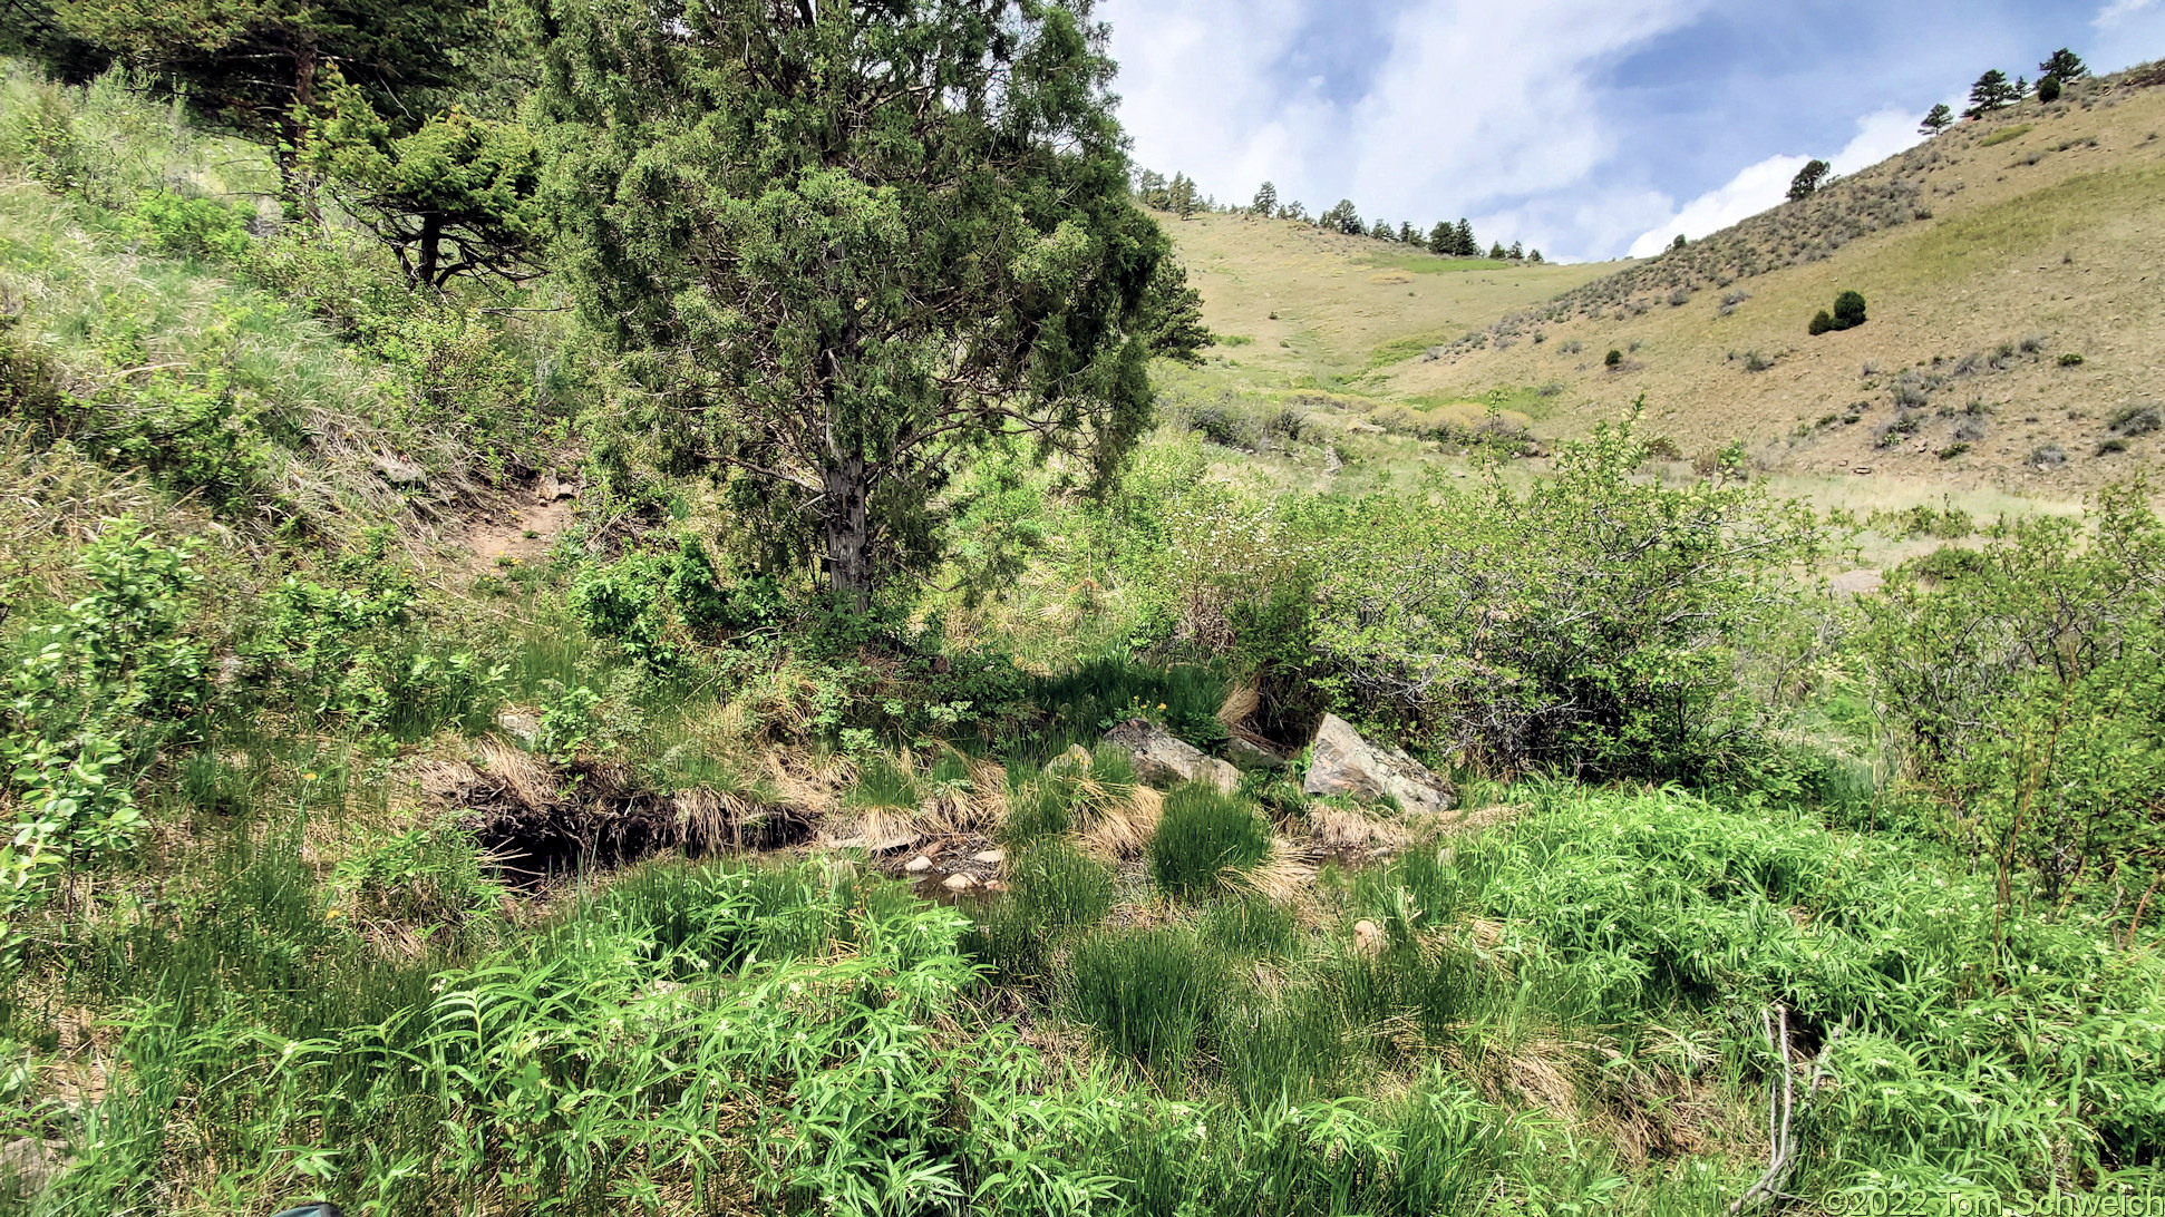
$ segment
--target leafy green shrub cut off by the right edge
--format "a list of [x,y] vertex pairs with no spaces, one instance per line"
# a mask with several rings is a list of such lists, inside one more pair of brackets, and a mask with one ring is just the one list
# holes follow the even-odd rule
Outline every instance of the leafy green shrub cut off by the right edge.
[[2165,836],[2165,526],[2141,487],[2100,494],[2096,533],[2022,518],[1957,578],[1894,572],[1866,658],[1916,782],[1998,871],[2003,903],[2035,875],[2146,886]]

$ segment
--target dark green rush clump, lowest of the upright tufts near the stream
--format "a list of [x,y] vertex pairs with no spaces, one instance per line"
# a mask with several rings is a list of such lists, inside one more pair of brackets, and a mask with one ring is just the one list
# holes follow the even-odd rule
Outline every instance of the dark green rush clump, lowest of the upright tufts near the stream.
[[1076,1016],[1160,1078],[1189,1070],[1232,983],[1219,953],[1186,929],[1098,931],[1076,942],[1067,968]]

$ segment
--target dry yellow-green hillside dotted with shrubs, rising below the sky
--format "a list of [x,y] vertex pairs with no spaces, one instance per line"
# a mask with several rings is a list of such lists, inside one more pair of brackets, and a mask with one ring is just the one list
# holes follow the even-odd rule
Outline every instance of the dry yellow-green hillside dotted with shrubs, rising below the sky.
[[[2165,401],[2165,89],[2137,80],[2150,78],[1964,123],[1622,269],[1444,262],[1238,219],[1169,225],[1204,269],[1210,323],[1258,338],[1219,351],[1197,392],[1318,383],[1370,420],[1383,403],[1500,401],[1546,437],[1583,435],[1643,394],[1680,457],[1743,442],[1829,500],[2065,502],[2165,444],[2146,414]],[[1557,297],[1511,303],[1541,288]],[[1871,320],[1808,336],[1840,290],[1864,292]],[[1825,479],[1897,487],[1810,485]]]

